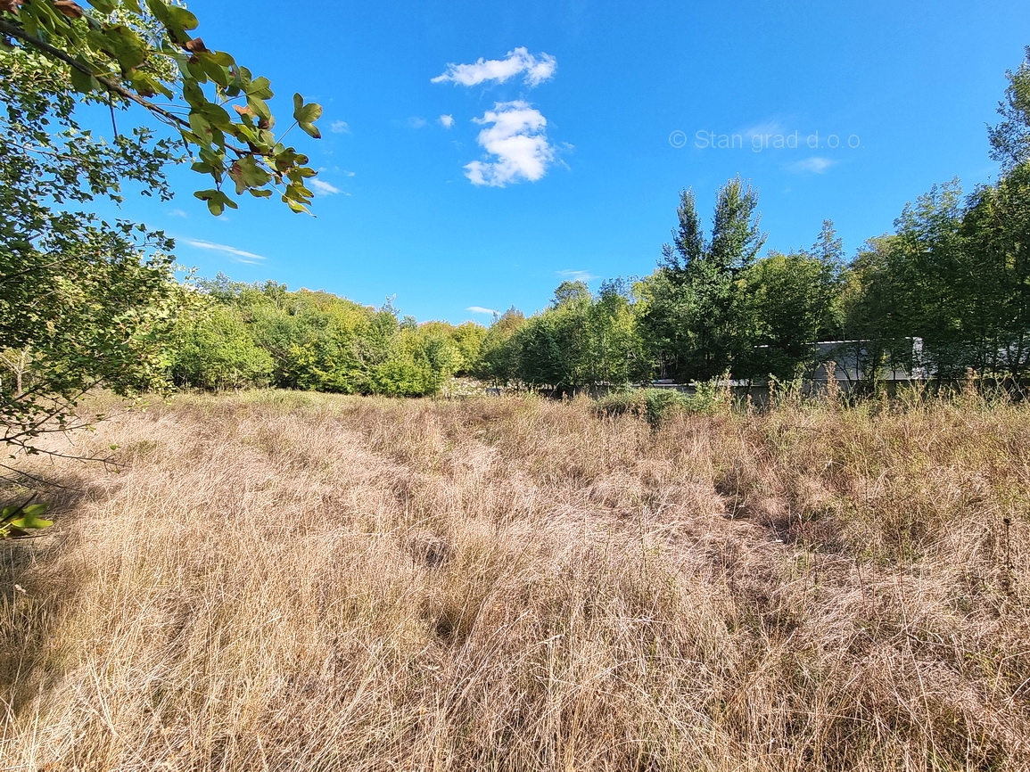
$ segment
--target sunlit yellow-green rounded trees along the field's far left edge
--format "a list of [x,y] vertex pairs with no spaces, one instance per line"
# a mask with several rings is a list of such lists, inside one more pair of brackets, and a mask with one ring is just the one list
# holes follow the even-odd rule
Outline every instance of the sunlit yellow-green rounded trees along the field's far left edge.
[[178,386],[272,385],[345,394],[434,394],[478,367],[486,330],[472,323],[402,321],[329,292],[290,292],[273,281],[197,283],[166,359]]

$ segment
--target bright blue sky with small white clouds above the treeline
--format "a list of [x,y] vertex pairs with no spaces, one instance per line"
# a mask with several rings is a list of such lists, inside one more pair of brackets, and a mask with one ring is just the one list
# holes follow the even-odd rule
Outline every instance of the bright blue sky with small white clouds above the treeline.
[[650,273],[679,191],[709,217],[736,175],[766,248],[806,247],[828,218],[851,254],[932,184],[997,174],[986,125],[1030,43],[1012,0],[190,8],[209,47],[271,78],[280,129],[295,91],[324,107],[322,140],[289,138],[321,170],[316,217],[249,199],[211,217],[185,170],[173,202],[123,214],[204,276],[396,294],[455,323]]

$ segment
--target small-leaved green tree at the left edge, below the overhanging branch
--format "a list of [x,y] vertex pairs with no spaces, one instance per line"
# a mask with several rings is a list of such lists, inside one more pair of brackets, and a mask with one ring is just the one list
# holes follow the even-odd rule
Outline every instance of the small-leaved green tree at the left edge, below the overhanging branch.
[[174,153],[146,129],[112,142],[75,120],[62,69],[0,51],[0,425],[8,445],[73,425],[97,383],[131,391],[160,378],[158,340],[177,285],[164,234],[74,211],[125,184],[167,197]]

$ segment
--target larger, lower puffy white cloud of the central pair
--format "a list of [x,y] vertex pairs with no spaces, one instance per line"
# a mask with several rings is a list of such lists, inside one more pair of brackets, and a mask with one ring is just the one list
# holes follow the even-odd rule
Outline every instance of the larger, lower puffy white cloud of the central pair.
[[481,118],[476,141],[494,160],[473,161],[465,176],[474,185],[504,187],[509,182],[536,182],[547,174],[554,148],[547,141],[547,118],[528,102],[497,102]]

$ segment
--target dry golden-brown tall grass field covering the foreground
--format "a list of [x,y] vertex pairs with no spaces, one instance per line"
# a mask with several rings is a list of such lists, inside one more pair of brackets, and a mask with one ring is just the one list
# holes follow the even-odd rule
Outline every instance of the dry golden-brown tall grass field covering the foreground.
[[[28,459],[0,769],[1030,769],[1030,409],[182,395]],[[7,491],[6,498],[14,493]]]

